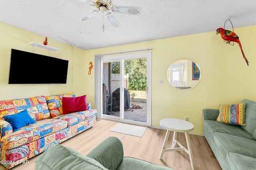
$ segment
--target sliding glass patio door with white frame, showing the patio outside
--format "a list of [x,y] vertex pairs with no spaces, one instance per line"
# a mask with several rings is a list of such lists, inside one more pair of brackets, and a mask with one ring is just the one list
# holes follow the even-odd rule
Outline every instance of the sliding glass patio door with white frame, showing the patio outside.
[[151,53],[103,57],[103,119],[151,126]]

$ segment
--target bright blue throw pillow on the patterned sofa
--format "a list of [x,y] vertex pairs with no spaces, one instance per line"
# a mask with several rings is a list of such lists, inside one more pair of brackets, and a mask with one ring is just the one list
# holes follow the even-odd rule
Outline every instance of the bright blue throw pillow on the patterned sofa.
[[12,125],[12,129],[16,131],[20,127],[24,127],[36,121],[30,117],[27,109],[13,115],[3,116],[4,120]]

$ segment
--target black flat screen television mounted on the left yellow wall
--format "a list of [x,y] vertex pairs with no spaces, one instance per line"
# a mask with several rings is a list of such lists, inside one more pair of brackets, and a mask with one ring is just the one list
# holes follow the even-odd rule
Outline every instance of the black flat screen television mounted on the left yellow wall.
[[12,49],[9,84],[66,84],[68,61]]

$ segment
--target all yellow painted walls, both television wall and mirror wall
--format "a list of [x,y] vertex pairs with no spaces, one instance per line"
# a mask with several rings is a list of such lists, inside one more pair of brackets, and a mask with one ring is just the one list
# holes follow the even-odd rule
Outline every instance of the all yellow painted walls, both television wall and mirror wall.
[[[31,52],[28,43],[43,42],[47,35],[0,22],[0,100],[75,92],[76,96],[86,94],[94,107],[94,68],[88,75],[94,55],[152,48],[152,126],[159,127],[163,118],[184,119],[186,116],[194,124],[193,133],[202,135],[202,109],[218,109],[220,104],[234,104],[245,98],[256,101],[256,25],[234,31],[240,37],[249,66],[239,46],[225,44],[215,31],[88,51],[48,39],[48,46],[61,49],[51,52],[51,57],[69,60],[67,84],[20,85],[8,84],[11,49]],[[37,47],[34,53],[48,55],[46,49]],[[190,59],[200,66],[202,78],[190,90],[178,90],[167,80],[168,67],[179,59]],[[164,84],[158,84],[158,80],[164,80]]]

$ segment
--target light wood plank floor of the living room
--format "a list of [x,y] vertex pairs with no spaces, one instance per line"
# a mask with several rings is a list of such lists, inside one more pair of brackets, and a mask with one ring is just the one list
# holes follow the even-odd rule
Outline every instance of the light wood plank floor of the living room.
[[[82,154],[87,154],[107,137],[115,136],[123,143],[124,156],[139,158],[154,164],[168,166],[175,170],[191,170],[189,156],[184,151],[165,152],[163,159],[159,160],[161,147],[166,134],[165,130],[147,127],[142,137],[134,137],[110,131],[118,123],[116,121],[97,119],[94,127],[68,139],[61,143],[61,145],[71,147]],[[166,147],[170,147],[172,136],[173,132],[170,134]],[[186,147],[184,133],[178,133],[177,137],[177,140]],[[194,155],[195,170],[221,170],[218,161],[203,136],[190,135],[190,141]],[[20,164],[11,170],[34,170],[35,161],[38,156],[29,159],[29,164]],[[0,165],[0,170],[6,170],[6,168]]]

